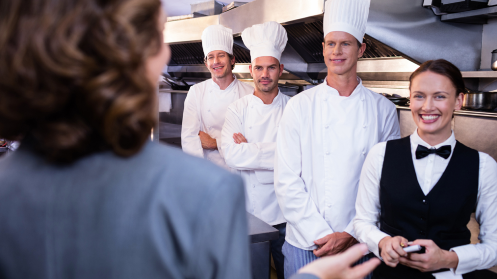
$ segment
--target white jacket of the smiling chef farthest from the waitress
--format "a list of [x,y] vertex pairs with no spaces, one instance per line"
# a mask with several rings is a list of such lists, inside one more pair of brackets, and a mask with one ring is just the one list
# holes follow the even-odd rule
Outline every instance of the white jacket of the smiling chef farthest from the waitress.
[[[229,170],[223,157],[221,130],[226,109],[234,101],[251,94],[253,87],[237,79],[225,89],[212,79],[207,79],[190,87],[186,95],[183,123],[181,126],[181,146],[183,151],[205,158]],[[198,133],[202,131],[217,140],[218,150],[203,149]]]

